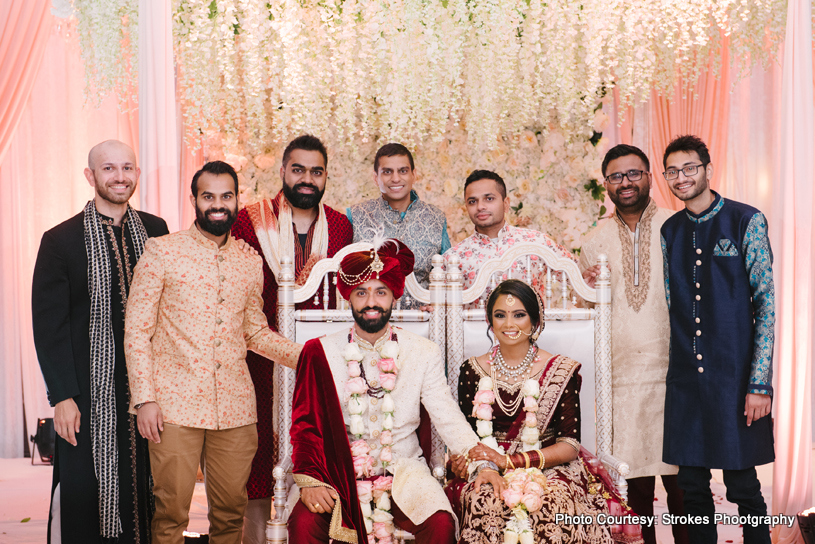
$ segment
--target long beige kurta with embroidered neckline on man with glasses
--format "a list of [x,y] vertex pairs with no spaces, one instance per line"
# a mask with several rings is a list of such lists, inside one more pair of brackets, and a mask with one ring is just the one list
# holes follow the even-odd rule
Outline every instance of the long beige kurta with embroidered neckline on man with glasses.
[[580,254],[581,270],[601,253],[611,268],[611,453],[629,464],[629,478],[677,472],[662,462],[671,330],[659,229],[673,213],[651,200],[638,225],[639,247],[615,213],[592,231]]

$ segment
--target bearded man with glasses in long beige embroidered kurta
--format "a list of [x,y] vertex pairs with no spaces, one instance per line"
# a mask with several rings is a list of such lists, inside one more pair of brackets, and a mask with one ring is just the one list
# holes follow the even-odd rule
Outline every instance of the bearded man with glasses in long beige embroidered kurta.
[[[670,325],[665,301],[659,229],[673,214],[651,198],[650,162],[637,147],[618,145],[602,165],[614,215],[591,232],[580,252],[580,269],[593,287],[597,257],[611,268],[611,386],[614,414],[612,453],[631,467],[628,504],[637,514],[654,515],[656,476],[668,492],[668,510],[680,516],[682,492],[677,468],[662,462],[665,375]],[[672,526],[675,542],[688,542],[687,529]],[[643,525],[646,544],[656,529]]]

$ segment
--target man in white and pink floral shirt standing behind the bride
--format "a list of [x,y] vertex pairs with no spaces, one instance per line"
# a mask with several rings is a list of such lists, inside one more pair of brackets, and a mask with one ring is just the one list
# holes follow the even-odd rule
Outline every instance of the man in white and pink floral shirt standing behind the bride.
[[[507,223],[505,219],[509,212],[507,186],[503,178],[495,172],[475,170],[467,176],[464,182],[464,204],[470,221],[475,225],[475,232],[450,248],[444,254],[444,260],[446,264],[451,255],[458,255],[465,289],[473,284],[484,261],[501,257],[515,244],[537,243],[552,249],[558,256],[577,261],[571,251],[559,245],[547,234],[513,227]],[[520,273],[526,270],[526,265],[518,262],[514,270],[515,277],[519,277]],[[532,274],[531,283],[538,291],[543,290],[545,274],[545,267],[540,273]]]

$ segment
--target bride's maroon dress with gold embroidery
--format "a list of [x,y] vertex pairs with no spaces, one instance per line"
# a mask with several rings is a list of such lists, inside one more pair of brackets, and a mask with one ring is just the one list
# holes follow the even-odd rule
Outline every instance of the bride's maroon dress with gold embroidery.
[[[541,447],[556,442],[567,442],[579,447],[580,441],[580,363],[562,355],[552,357],[539,375],[541,395],[538,399],[538,428]],[[472,417],[473,397],[478,382],[487,374],[472,358],[461,367],[458,398],[461,411],[475,428]],[[521,394],[523,381],[508,387],[498,384],[498,394],[505,404]],[[523,404],[521,404],[523,406]],[[522,407],[518,413],[506,415],[498,404],[493,405],[493,434],[507,453],[521,451],[520,431],[523,425]],[[596,519],[598,514],[633,513],[613,489],[608,474],[597,458],[580,448],[574,461],[544,471],[548,488],[543,496],[543,507],[530,515],[535,542],[562,543],[641,543],[638,526],[611,527],[597,523],[578,525],[555,521],[555,515],[583,514]],[[461,520],[460,544],[501,544],[504,525],[512,513],[504,502],[496,498],[492,488],[473,489],[472,483],[455,479],[445,488],[450,503]]]

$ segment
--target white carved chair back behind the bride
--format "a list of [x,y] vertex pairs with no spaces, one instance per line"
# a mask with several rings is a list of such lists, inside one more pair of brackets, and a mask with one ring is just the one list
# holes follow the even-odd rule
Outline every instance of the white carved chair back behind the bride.
[[[547,247],[518,244],[501,258],[484,262],[472,285],[464,289],[458,258],[451,256],[446,263],[447,375],[454,395],[458,393],[461,364],[490,348],[484,305],[492,289],[509,278],[538,284],[546,321],[538,345],[582,364],[581,442],[590,451],[610,453],[611,286],[604,255],[598,264],[601,275],[592,289],[573,261]],[[577,297],[594,307],[574,307]]]

